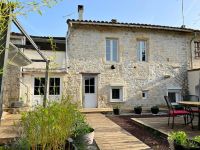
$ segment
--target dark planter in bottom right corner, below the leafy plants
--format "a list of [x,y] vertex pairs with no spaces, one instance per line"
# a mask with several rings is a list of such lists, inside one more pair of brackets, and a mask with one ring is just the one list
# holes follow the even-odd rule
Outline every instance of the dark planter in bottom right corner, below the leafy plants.
[[174,141],[174,150],[200,150],[200,143],[195,142],[193,140],[187,140],[187,142],[191,143],[192,145],[195,145],[195,147],[189,146],[190,145],[189,143],[187,144],[187,147],[186,147],[184,145],[177,144]]

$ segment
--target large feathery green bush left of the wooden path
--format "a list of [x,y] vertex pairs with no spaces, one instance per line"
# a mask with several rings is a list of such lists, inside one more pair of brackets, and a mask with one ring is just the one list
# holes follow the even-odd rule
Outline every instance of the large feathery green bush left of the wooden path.
[[60,149],[64,147],[66,139],[74,133],[74,126],[84,120],[76,104],[66,98],[60,103],[50,103],[46,108],[38,106],[35,110],[22,115],[21,137],[36,149]]

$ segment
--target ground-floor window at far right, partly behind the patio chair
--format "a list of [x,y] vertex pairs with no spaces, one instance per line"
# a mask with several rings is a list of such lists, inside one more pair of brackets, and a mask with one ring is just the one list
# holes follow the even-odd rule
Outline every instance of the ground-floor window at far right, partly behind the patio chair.
[[168,97],[171,103],[176,103],[181,100],[181,90],[178,89],[169,89]]

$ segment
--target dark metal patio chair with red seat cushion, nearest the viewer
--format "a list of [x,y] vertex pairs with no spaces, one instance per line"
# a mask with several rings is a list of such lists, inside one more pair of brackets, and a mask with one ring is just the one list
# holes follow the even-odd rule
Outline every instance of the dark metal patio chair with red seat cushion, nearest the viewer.
[[190,115],[191,113],[187,110],[175,110],[174,107],[172,106],[172,104],[170,103],[168,96],[164,96],[164,99],[165,99],[165,101],[167,103],[167,107],[168,107],[168,126],[169,126],[169,122],[170,122],[170,117],[173,117],[172,129],[174,128],[174,118],[176,116],[183,116],[184,123],[186,125],[186,116],[189,115],[190,119],[191,119],[191,125],[192,125],[192,128],[193,128],[192,118],[191,118],[191,115]]

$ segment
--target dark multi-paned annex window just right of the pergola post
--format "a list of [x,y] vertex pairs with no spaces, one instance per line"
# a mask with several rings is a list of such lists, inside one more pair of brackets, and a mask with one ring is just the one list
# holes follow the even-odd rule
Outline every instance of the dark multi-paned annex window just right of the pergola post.
[[49,95],[60,95],[60,78],[49,79]]

